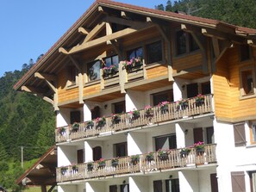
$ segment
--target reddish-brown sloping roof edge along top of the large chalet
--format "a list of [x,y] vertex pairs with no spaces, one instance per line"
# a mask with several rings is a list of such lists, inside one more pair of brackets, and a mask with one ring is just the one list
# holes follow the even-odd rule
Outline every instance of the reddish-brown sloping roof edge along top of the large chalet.
[[254,38],[256,35],[256,29],[253,28],[243,28],[239,26],[234,26],[225,22],[220,22],[217,20],[201,18],[192,15],[182,15],[178,13],[172,13],[167,11],[162,11],[158,9],[147,9],[127,3],[118,3],[109,0],[97,0],[95,1],[89,9],[86,10],[84,15],[82,15],[77,22],[75,22],[71,28],[67,30],[65,34],[47,51],[44,56],[15,84],[14,89],[19,90],[21,89],[23,84],[28,82],[28,79],[33,77],[34,72],[39,71],[42,65],[47,64],[47,59],[49,59],[53,53],[59,53],[59,47],[61,47],[65,41],[72,36],[72,34],[78,32],[78,28],[82,25],[86,19],[88,19],[99,6],[111,9],[119,9],[123,11],[128,11],[131,13],[139,14],[139,15],[146,15],[152,16],[154,18],[162,19],[165,21],[172,21],[172,22],[182,22],[185,24],[191,24],[201,27],[207,28],[229,28],[230,30],[234,31],[234,34],[240,35],[242,37],[249,38],[250,35]]

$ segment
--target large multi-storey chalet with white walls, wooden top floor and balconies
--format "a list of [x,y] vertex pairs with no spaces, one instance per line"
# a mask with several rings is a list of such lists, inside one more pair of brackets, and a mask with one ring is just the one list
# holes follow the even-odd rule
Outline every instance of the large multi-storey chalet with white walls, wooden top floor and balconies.
[[15,85],[53,104],[58,191],[256,191],[255,35],[93,3]]

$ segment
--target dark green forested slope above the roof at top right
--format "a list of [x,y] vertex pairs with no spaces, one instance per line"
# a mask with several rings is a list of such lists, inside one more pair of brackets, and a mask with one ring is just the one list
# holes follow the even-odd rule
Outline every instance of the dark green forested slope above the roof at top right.
[[179,0],[155,6],[166,11],[183,11],[188,15],[211,18],[247,28],[256,28],[255,0]]

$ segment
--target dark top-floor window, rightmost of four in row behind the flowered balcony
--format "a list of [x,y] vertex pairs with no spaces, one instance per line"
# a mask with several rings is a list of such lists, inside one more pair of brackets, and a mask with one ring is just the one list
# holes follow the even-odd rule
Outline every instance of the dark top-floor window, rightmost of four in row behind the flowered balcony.
[[161,61],[162,54],[162,42],[161,40],[147,45],[147,64],[153,64]]

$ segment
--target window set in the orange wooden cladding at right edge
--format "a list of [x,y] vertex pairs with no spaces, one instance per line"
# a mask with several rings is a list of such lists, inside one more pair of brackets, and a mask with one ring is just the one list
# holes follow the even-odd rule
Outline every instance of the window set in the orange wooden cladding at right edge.
[[240,69],[240,96],[255,95],[255,73],[253,66]]

